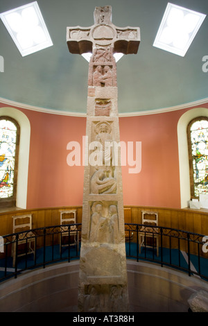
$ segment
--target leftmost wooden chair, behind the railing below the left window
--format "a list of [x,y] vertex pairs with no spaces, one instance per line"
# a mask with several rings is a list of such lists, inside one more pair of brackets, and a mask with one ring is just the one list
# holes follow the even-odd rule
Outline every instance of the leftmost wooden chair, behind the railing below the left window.
[[[13,218],[13,233],[22,232],[18,234],[18,241],[16,235],[13,236],[12,241],[12,259],[13,267],[15,267],[16,257],[29,255],[33,253],[35,260],[35,234],[31,232],[32,229],[32,214],[12,216]],[[27,232],[24,232],[27,231]],[[32,248],[33,243],[33,248]],[[18,247],[24,246],[24,252],[18,253]],[[16,252],[17,251],[17,252]]]

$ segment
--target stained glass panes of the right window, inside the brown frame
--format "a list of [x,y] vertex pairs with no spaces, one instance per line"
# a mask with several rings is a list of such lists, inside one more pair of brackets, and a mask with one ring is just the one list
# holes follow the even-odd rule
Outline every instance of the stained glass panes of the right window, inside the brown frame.
[[194,122],[190,131],[194,194],[198,197],[208,194],[208,121]]

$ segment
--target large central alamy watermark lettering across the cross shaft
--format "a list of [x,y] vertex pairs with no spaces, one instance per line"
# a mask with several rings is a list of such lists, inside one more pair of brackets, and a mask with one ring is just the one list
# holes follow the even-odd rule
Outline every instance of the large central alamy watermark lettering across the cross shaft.
[[[86,150],[85,150],[86,148]],[[92,141],[83,136],[83,143],[69,141],[69,166],[129,166],[128,173],[141,172],[141,141]],[[86,153],[85,153],[86,151]]]

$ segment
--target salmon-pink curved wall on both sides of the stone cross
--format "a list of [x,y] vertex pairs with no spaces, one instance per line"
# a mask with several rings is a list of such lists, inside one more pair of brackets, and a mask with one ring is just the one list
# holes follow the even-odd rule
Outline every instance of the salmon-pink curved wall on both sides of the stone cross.
[[[82,205],[84,167],[67,164],[67,144],[82,144],[86,119],[17,109],[31,122],[27,208]],[[180,208],[177,121],[187,110],[119,119],[121,141],[141,141],[140,173],[122,167],[124,205]]]

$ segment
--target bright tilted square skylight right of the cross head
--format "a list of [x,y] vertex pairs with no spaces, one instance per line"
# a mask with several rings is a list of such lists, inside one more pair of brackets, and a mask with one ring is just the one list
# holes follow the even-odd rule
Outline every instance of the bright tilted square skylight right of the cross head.
[[206,15],[168,3],[153,46],[184,55]]

